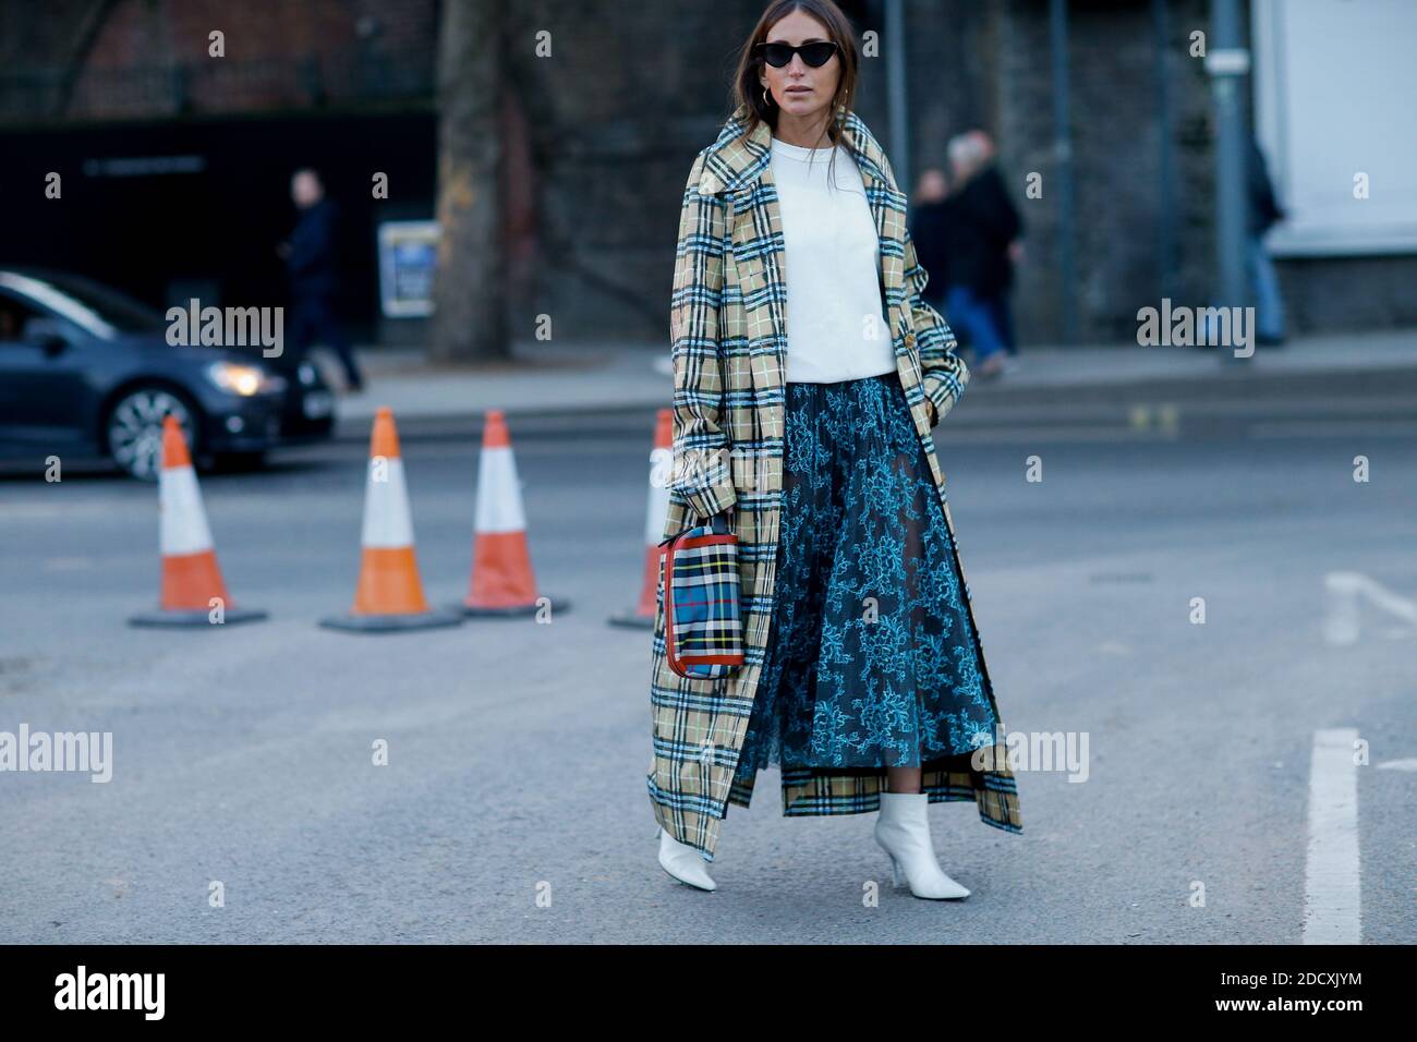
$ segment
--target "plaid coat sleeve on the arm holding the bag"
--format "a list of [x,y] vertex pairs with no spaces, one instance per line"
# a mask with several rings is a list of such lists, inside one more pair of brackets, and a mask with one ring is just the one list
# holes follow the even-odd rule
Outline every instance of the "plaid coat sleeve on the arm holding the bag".
[[723,352],[718,308],[723,298],[724,201],[699,193],[704,153],[689,170],[679,242],[674,248],[674,288],[670,298],[670,340],[674,374],[673,475],[677,493],[701,517],[735,505],[728,438],[723,417]]

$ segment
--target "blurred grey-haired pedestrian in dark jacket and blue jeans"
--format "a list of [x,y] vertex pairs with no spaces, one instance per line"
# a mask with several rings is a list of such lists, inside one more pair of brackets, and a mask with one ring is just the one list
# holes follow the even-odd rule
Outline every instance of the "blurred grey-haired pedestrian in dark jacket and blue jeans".
[[1013,335],[1007,292],[1013,285],[1015,240],[1023,220],[1009,200],[1003,179],[990,163],[993,142],[983,130],[951,138],[949,292],[945,313],[959,326],[975,352],[975,373],[1003,371]]

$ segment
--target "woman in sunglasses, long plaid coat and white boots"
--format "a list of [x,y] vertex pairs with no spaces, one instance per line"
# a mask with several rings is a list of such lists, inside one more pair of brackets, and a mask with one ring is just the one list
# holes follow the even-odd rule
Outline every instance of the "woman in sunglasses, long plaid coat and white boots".
[[690,886],[714,889],[718,822],[777,761],[785,815],[879,809],[897,885],[964,897],[927,802],[975,800],[1022,831],[931,435],[968,371],[921,299],[905,197],[854,88],[842,11],[771,4],[689,173],[665,534],[731,522],[745,662],[674,673],[660,595],[646,783],[659,862]]

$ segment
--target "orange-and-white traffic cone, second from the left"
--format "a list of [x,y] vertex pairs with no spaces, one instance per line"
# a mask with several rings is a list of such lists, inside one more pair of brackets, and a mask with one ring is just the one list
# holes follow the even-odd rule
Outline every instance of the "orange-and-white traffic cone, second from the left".
[[394,414],[384,405],[374,415],[368,441],[368,478],[364,483],[364,530],[360,539],[359,586],[347,615],[320,620],[330,629],[390,632],[458,625],[462,617],[432,610],[424,597],[414,554],[414,520],[398,454]]

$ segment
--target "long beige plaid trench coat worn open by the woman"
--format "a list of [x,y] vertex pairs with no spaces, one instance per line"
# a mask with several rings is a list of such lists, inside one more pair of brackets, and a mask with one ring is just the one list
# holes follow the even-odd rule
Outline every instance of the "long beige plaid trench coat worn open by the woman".
[[[772,130],[760,123],[745,136],[745,108],[734,112],[718,139],[694,157],[684,186],[670,301],[673,475],[663,532],[667,537],[734,508],[745,662],[734,676],[718,680],[674,673],[665,654],[662,587],[652,644],[650,804],[665,831],[708,862],[728,804],[747,807],[752,797],[752,780],[735,781],[734,773],[772,622],[782,498],[788,346],[782,220],[769,164]],[[845,122],[843,145],[862,170],[876,218],[897,371],[954,539],[932,428],[958,401],[969,373],[955,354],[945,319],[921,299],[928,276],[917,261],[905,227],[905,196],[896,187],[884,152],[845,106],[837,119]],[[959,573],[964,577],[962,566]],[[972,622],[968,581],[964,588]],[[978,644],[976,652],[992,703]],[[1002,732],[998,707],[995,716]],[[982,753],[973,763],[968,757],[927,761],[924,790],[931,802],[973,800],[986,824],[1022,832],[1003,736],[996,734]],[[983,770],[975,768],[978,763]],[[884,787],[884,767],[785,770],[782,812],[876,811]]]

